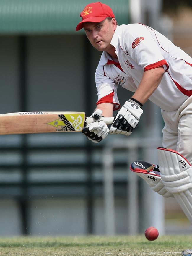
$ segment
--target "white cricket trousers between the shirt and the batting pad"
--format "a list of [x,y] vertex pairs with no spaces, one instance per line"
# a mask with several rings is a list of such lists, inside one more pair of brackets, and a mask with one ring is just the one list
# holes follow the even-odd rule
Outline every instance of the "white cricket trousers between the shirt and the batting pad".
[[176,150],[192,164],[192,96],[178,110],[161,111],[163,147]]

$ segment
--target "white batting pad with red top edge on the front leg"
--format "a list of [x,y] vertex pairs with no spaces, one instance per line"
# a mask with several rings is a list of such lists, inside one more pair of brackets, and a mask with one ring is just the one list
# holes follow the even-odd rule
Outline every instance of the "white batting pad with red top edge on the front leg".
[[160,176],[192,223],[192,167],[177,151],[157,148]]

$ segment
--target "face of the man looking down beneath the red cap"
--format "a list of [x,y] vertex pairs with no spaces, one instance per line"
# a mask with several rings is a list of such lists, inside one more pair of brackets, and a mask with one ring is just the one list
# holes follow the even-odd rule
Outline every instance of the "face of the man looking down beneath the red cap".
[[113,46],[110,45],[111,39],[117,25],[112,20],[105,19],[102,22],[85,22],[84,30],[93,47],[98,51],[109,51]]

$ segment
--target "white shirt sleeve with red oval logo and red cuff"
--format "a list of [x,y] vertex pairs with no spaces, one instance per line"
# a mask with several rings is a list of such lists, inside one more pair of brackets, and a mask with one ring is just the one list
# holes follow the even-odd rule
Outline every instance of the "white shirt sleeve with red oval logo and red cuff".
[[124,47],[131,58],[144,71],[163,66],[165,72],[169,66],[161,54],[154,30],[143,24],[129,24],[121,35]]

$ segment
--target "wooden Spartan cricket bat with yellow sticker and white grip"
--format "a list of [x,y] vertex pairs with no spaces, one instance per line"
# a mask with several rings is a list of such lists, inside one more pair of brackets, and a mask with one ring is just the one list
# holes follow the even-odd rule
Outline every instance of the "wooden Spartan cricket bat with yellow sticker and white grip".
[[[112,124],[113,117],[102,117]],[[84,112],[18,112],[0,114],[0,135],[47,132],[82,132],[93,122]]]

